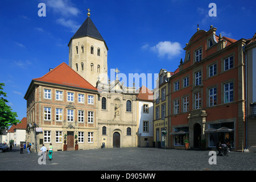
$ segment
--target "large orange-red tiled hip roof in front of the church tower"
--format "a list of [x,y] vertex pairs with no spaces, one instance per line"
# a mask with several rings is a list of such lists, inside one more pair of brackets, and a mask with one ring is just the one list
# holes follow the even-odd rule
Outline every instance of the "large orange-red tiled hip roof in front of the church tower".
[[43,81],[52,84],[74,86],[90,90],[97,90],[93,85],[81,77],[66,63],[61,63],[56,68],[52,69],[46,75],[40,78],[34,78],[36,81]]

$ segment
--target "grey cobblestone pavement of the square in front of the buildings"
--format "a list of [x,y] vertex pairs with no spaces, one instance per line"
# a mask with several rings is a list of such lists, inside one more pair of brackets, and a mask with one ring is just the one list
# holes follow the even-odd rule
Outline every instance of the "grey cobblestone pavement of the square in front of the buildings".
[[216,156],[209,164],[209,151],[162,148],[100,148],[95,150],[56,151],[52,160],[40,165],[40,156],[19,154],[18,148],[0,154],[0,171],[255,171],[256,152],[230,152]]

